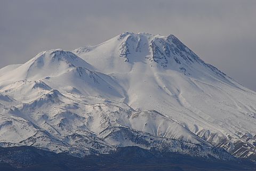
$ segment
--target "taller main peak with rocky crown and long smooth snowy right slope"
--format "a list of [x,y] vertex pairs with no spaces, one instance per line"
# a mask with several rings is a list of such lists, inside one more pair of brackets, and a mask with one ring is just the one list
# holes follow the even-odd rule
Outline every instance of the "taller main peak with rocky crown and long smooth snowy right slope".
[[156,110],[237,156],[255,154],[256,93],[175,36],[125,32],[81,49],[73,52],[114,77],[125,89],[123,102],[135,110]]

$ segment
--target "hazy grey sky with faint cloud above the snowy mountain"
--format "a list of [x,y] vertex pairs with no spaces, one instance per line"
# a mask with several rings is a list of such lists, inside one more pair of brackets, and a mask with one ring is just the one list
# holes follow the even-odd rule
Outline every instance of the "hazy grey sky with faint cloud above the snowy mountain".
[[0,68],[125,31],[174,34],[205,62],[256,91],[255,9],[254,0],[0,0]]

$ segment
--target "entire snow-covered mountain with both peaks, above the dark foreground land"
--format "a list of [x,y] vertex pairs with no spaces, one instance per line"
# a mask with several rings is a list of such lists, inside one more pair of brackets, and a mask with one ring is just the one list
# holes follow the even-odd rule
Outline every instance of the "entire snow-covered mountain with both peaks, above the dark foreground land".
[[173,35],[125,32],[0,69],[0,144],[256,158],[256,93]]

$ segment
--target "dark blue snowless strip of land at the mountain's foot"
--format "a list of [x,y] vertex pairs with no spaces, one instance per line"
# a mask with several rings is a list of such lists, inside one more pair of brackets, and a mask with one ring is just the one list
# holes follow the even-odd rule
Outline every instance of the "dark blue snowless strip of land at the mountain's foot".
[[[32,146],[0,148],[0,168],[14,170],[253,170],[250,161],[212,160],[179,153],[161,153],[127,146],[110,154],[77,158],[66,153],[53,153]],[[26,156],[26,157],[24,157]]]

